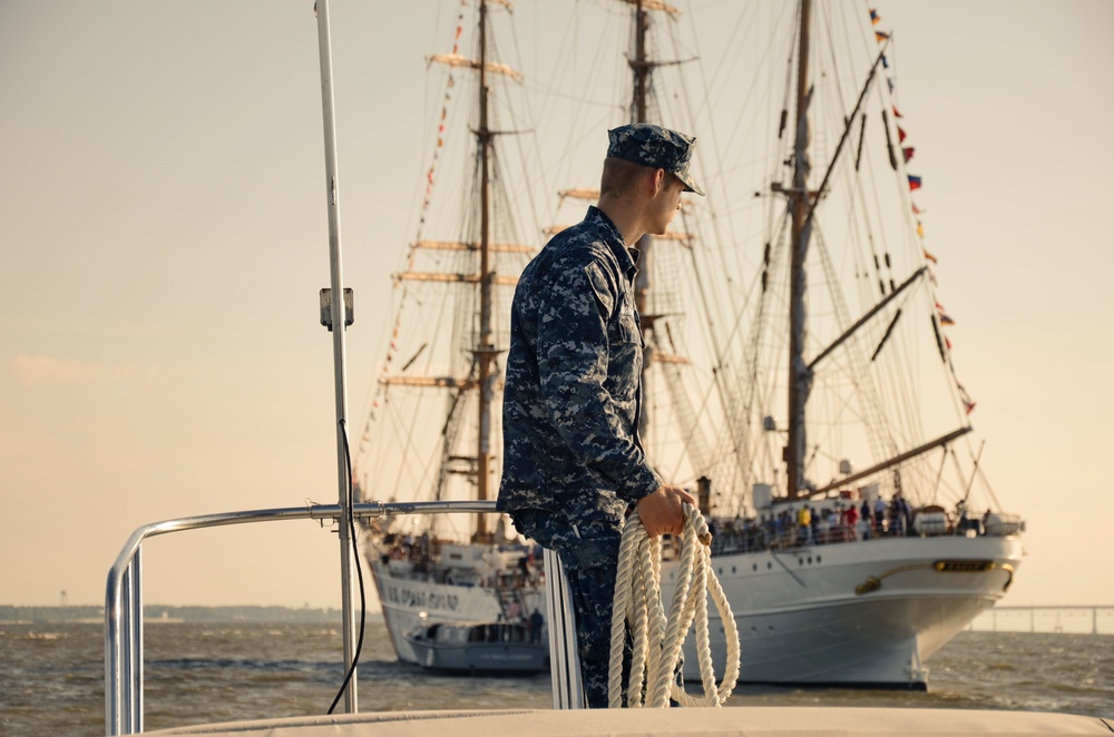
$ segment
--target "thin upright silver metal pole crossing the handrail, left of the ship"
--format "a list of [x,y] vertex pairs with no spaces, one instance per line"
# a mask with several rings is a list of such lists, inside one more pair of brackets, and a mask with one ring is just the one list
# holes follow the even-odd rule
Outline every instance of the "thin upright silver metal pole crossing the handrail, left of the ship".
[[[325,187],[329,208],[329,273],[332,289],[332,336],[333,336],[333,386],[336,397],[336,481],[338,505],[342,510],[340,520],[341,542],[341,610],[343,612],[344,669],[352,667],[355,658],[355,613],[352,600],[354,541],[351,540],[352,495],[349,484],[349,466],[345,452],[345,425],[348,415],[348,381],[344,367],[344,283],[341,278],[341,226],[340,203],[336,184],[336,130],[333,122],[333,60],[329,39],[329,0],[317,0],[317,50],[321,57],[321,111],[325,135]],[[356,681],[359,674],[344,691],[344,710],[359,710]]]

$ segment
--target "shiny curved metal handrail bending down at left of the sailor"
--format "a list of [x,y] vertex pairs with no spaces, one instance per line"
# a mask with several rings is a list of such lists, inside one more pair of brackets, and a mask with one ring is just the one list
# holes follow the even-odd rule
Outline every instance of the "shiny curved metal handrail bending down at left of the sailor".
[[[352,505],[352,517],[374,519],[391,514],[495,512],[494,501],[368,502]],[[143,731],[143,543],[170,532],[273,522],[277,520],[339,521],[339,504],[307,504],[242,512],[199,514],[136,528],[108,572],[105,593],[105,731]]]

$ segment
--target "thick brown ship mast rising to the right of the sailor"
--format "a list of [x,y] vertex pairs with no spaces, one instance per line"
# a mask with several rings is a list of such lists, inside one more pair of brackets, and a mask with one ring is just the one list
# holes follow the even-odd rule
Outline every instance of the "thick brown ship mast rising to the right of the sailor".
[[792,257],[790,263],[789,302],[789,440],[785,445],[786,493],[797,499],[807,485],[804,479],[805,434],[804,404],[812,384],[812,372],[804,360],[807,335],[805,308],[808,276],[804,271],[809,250],[811,220],[809,219],[809,26],[812,0],[801,0],[800,43],[797,68],[797,139],[793,155],[793,187],[790,191],[793,220],[790,235]]

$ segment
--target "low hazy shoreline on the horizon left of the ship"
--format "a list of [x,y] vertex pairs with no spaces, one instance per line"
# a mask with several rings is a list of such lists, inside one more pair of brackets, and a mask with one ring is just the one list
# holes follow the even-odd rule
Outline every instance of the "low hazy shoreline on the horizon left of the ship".
[[[379,621],[382,615],[368,612],[368,621]],[[14,607],[0,605],[0,626],[40,623],[96,623],[105,622],[105,608],[77,607]],[[170,607],[146,605],[145,623],[190,622],[275,622],[341,625],[340,609],[312,609],[303,607]]]

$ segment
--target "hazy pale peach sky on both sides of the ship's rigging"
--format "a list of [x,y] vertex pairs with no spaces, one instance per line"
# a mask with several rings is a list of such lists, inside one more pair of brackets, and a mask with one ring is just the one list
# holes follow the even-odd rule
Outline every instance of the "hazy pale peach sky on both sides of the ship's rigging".
[[[520,2],[521,36],[602,3]],[[1006,603],[1114,605],[1114,3],[877,6],[983,466],[1028,522]],[[354,414],[457,3],[331,7]],[[146,522],[335,501],[323,181],[312,0],[0,0],[0,603],[101,603]],[[170,535],[146,600],[336,606],[338,558],[310,522]]]

